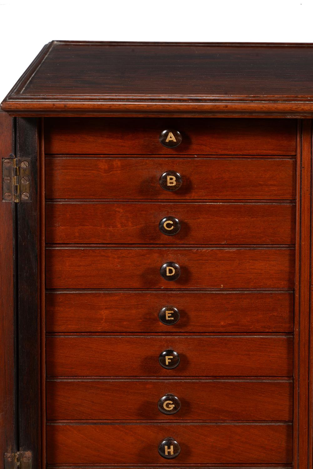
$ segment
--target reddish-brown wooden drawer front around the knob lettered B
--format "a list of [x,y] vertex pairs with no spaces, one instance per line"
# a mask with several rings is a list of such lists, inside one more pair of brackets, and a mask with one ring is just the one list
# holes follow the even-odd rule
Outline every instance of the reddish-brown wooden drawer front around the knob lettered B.
[[[179,189],[160,186],[166,171]],[[293,200],[295,171],[294,159],[46,158],[46,198]]]

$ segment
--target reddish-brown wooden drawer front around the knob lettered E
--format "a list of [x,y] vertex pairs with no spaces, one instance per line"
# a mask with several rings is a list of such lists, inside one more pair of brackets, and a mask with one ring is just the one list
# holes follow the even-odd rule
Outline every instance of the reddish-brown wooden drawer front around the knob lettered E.
[[[171,319],[166,324],[160,321],[159,312],[166,306],[178,310],[175,324]],[[169,317],[174,316],[170,313]],[[293,332],[293,293],[48,292],[46,330]]]

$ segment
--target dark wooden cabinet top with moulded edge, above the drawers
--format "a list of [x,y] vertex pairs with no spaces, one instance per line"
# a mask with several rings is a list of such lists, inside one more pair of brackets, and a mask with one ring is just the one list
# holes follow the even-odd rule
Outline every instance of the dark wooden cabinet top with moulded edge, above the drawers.
[[12,115],[313,117],[313,44],[52,41],[1,106]]

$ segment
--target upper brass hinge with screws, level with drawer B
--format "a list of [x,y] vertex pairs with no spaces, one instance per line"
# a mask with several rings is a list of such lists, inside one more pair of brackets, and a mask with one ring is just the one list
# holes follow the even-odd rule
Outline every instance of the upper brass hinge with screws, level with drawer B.
[[10,155],[2,159],[2,200],[27,202],[31,200],[31,161]]

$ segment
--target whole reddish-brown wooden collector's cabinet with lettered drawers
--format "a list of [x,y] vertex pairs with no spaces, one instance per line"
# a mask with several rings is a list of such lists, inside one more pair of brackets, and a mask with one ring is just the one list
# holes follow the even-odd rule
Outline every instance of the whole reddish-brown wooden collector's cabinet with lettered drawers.
[[312,468],[313,45],[53,41],[1,107],[0,467]]

